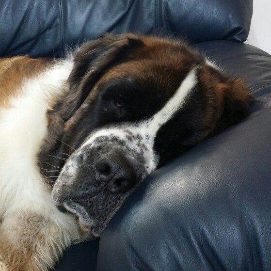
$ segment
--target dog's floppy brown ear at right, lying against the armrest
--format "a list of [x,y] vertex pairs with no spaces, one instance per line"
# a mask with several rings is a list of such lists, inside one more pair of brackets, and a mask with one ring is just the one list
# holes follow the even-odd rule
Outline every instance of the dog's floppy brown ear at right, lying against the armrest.
[[200,68],[198,75],[207,94],[207,134],[219,133],[249,114],[250,103],[254,98],[243,80],[224,76],[209,65]]

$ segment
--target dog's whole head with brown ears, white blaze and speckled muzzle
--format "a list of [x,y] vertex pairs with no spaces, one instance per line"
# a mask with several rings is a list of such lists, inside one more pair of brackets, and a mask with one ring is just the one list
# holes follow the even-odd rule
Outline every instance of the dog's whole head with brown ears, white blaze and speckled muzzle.
[[244,83],[179,41],[106,35],[73,62],[50,112],[64,129],[47,150],[61,169],[53,199],[93,238],[147,175],[249,111]]

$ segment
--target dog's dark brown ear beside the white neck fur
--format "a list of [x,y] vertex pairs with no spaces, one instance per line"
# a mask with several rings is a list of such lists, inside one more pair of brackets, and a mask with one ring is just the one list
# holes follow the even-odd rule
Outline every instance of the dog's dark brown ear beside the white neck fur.
[[54,108],[64,121],[80,107],[106,70],[125,59],[129,50],[141,46],[134,34],[110,35],[84,43],[74,54],[74,66],[68,78],[69,92]]

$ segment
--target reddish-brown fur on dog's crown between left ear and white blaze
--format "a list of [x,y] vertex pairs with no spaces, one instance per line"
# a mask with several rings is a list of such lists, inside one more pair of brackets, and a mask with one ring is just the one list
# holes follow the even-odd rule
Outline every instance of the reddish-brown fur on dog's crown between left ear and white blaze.
[[[126,35],[122,36],[126,37]],[[113,65],[98,83],[107,82],[115,77],[125,78],[132,74],[143,82],[150,77],[157,78],[159,83],[164,82],[165,92],[170,92],[174,88],[167,85],[169,81],[176,81],[179,84],[180,73],[188,71],[191,65],[204,61],[200,53],[191,50],[183,42],[133,34],[127,36],[140,40],[142,46],[132,48],[128,52],[126,62]],[[159,70],[156,70],[157,68]]]

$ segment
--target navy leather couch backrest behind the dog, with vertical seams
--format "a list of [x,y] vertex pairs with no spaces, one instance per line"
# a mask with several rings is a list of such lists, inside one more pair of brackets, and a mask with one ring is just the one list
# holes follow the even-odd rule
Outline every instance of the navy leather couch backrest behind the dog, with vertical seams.
[[1,0],[0,56],[60,56],[104,32],[243,42],[252,7],[252,0]]

